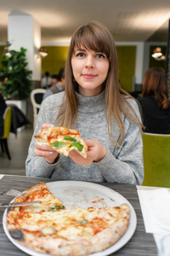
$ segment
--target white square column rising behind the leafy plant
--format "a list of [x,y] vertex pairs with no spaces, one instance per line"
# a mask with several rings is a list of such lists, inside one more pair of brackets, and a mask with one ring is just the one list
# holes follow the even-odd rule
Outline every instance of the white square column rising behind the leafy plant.
[[41,58],[37,57],[41,46],[41,27],[31,15],[8,15],[8,42],[10,49],[26,49],[28,69],[32,71],[32,80],[41,80]]

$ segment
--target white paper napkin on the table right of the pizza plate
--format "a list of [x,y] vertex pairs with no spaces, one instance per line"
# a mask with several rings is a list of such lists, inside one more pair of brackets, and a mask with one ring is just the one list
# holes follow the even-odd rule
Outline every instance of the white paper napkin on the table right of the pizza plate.
[[138,190],[146,233],[170,233],[170,193],[167,189]]

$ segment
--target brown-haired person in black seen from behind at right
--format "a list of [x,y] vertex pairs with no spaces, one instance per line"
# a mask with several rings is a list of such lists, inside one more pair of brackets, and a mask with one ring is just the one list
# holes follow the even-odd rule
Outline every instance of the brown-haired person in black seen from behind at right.
[[144,121],[144,131],[170,134],[170,102],[167,75],[161,67],[151,67],[144,73],[142,97],[138,97]]

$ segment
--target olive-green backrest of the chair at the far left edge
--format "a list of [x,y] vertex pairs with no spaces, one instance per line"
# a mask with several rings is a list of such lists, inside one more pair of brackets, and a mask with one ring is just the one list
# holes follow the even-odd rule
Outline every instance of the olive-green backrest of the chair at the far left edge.
[[7,138],[10,132],[12,123],[12,108],[7,107],[3,113],[3,137]]

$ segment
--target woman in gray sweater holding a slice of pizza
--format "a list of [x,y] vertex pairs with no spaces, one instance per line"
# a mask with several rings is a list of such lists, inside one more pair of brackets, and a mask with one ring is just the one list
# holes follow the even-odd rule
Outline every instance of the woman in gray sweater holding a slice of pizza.
[[[56,117],[57,114],[57,117]],[[108,29],[90,22],[74,33],[65,65],[65,92],[42,102],[35,133],[52,124],[79,130],[88,157],[65,157],[32,140],[26,175],[141,184],[142,123],[137,103],[118,83],[116,46]]]

